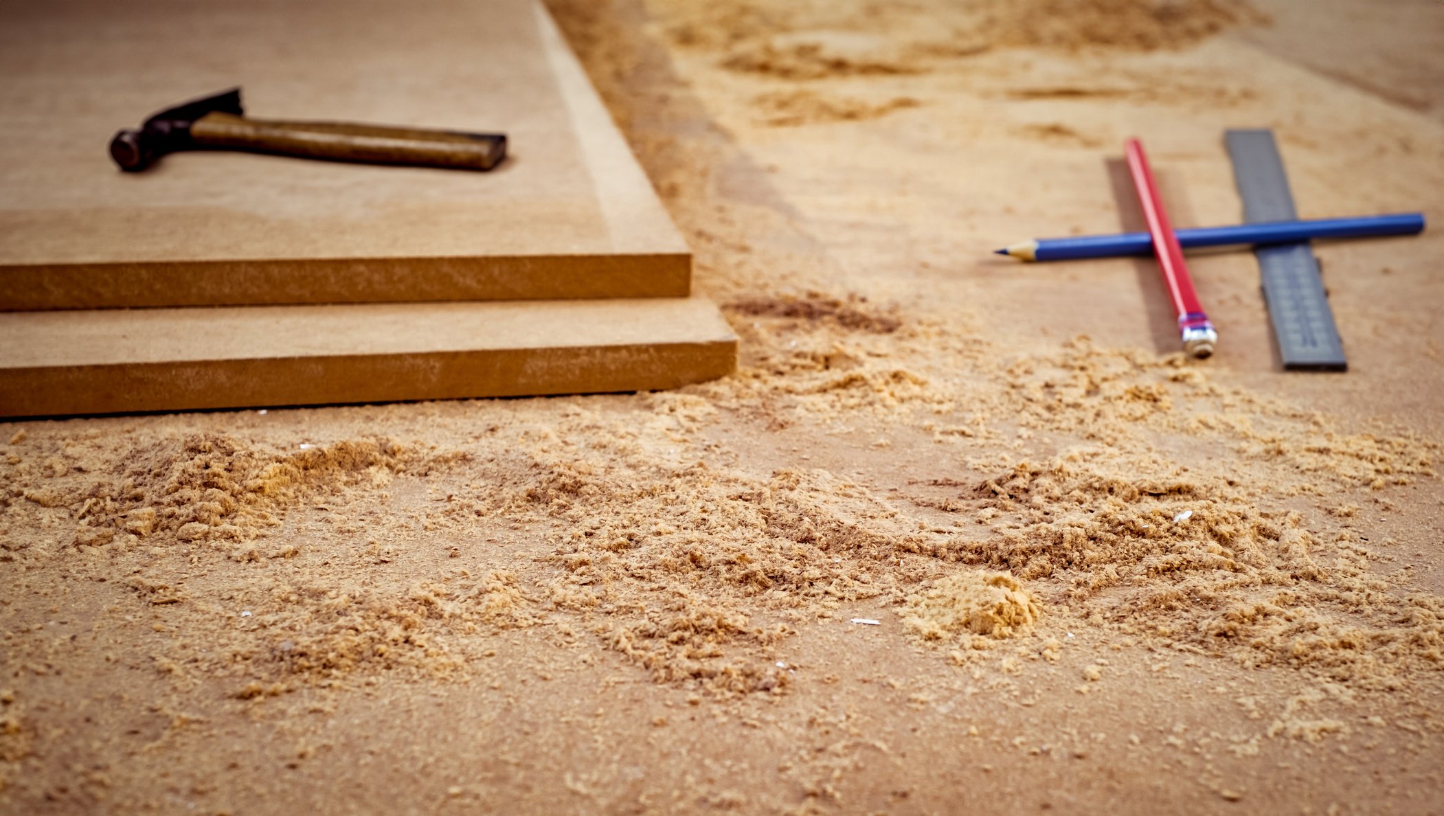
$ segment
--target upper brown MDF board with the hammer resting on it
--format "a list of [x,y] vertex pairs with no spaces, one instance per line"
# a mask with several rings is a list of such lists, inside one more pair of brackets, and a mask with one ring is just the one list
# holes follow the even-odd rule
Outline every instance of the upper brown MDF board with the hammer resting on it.
[[[0,309],[660,298],[690,254],[531,0],[46,0],[0,25]],[[503,131],[491,172],[105,146],[248,116]]]

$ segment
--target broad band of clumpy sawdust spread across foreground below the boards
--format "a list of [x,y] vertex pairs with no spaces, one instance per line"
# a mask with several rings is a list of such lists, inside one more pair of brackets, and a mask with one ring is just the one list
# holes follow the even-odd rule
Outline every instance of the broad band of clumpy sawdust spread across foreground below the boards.
[[[573,621],[657,682],[775,692],[790,683],[773,666],[778,644],[799,624],[868,599],[900,605],[924,638],[1025,635],[1047,605],[1121,634],[1359,687],[1398,687],[1441,667],[1444,604],[1375,575],[1380,556],[1357,534],[1324,533],[1337,503],[1313,520],[1261,507],[1318,492],[1320,479],[1376,492],[1430,478],[1434,445],[1336,432],[1315,413],[1217,387],[1175,357],[1073,341],[1008,363],[963,344],[954,354],[976,380],[959,383],[900,367],[900,350],[933,335],[864,300],[807,295],[731,311],[809,344],[787,365],[650,397],[654,419],[640,429],[572,407],[516,438],[436,449],[355,439],[283,451],[215,433],[27,440],[29,455],[7,465],[6,514],[20,520],[7,529],[69,518],[72,533],[55,544],[98,552],[131,575],[137,598],[219,647],[201,657],[198,641],[176,641],[157,664],[245,682],[464,677],[479,648],[471,635]],[[869,341],[888,344],[888,355],[842,351]],[[810,351],[820,344],[832,351]],[[957,357],[934,363],[956,367]],[[969,465],[975,481],[931,479],[943,495],[914,504],[962,517],[939,526],[827,469],[755,474],[676,451],[693,451],[719,406],[748,404],[793,422],[962,414],[962,425],[924,426],[936,445],[978,453],[1028,432],[1077,442],[1048,459],[999,465],[985,455]],[[1235,464],[1181,469],[1152,448],[1160,430],[1232,445]],[[384,504],[399,478],[446,500],[404,521]],[[468,562],[383,585],[266,575],[206,599],[165,562],[296,559],[302,550],[283,530],[302,505],[332,513],[341,552],[373,563],[396,557],[387,531],[475,536],[497,520],[553,531],[546,569],[520,578]],[[0,544],[27,568],[58,555],[30,537]],[[975,585],[973,573],[949,576],[953,562],[1006,573]],[[1002,607],[980,611],[988,594]],[[253,614],[237,618],[237,607]]]

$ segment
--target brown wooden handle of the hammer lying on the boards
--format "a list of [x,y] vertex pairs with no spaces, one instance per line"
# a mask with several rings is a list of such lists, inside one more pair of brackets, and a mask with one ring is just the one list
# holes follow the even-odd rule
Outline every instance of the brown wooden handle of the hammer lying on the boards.
[[459,133],[336,121],[269,121],[208,113],[191,124],[202,147],[279,153],[334,162],[490,170],[507,155],[500,133]]

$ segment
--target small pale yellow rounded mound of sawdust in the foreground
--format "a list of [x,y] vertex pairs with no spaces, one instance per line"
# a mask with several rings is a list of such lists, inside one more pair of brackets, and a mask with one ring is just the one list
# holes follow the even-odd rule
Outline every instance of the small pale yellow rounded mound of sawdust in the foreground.
[[1001,640],[1032,631],[1041,615],[1038,601],[1005,572],[965,572],[911,595],[902,624],[924,641],[954,635]]

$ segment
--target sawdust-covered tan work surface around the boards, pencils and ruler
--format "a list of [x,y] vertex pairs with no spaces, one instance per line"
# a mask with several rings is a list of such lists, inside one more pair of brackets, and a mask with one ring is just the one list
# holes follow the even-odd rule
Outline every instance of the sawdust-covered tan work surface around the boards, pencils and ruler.
[[4,423],[0,810],[1438,812],[1440,233],[1318,247],[1341,376],[1246,253],[1206,363],[988,254],[1136,225],[1132,134],[1178,225],[1238,126],[1440,217],[1437,3],[552,7],[738,374]]

